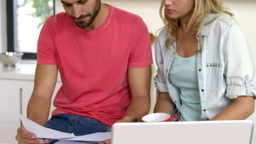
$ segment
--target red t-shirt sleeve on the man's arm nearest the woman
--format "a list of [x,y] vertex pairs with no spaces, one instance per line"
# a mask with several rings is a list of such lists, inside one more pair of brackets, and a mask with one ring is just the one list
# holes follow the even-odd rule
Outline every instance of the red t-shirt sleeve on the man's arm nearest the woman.
[[133,26],[134,33],[133,38],[131,38],[132,49],[128,67],[147,67],[153,63],[148,28],[141,18]]

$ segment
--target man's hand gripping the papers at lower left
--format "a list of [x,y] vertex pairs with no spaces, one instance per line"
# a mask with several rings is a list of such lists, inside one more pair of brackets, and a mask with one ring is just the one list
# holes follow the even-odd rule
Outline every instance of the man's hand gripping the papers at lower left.
[[19,144],[25,143],[47,143],[48,139],[37,139],[35,134],[28,133],[24,127],[20,127],[17,130],[16,140],[18,140]]

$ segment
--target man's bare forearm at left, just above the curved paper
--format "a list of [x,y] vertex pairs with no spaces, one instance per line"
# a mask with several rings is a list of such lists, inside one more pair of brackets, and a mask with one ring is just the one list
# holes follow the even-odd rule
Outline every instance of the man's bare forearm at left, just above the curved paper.
[[40,125],[48,121],[51,100],[32,95],[27,105],[27,118]]

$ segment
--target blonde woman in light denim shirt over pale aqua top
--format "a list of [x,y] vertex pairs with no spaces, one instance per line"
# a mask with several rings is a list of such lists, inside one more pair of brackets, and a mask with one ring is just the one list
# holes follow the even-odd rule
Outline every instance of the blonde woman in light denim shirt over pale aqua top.
[[[164,15],[162,15],[164,11]],[[162,0],[154,112],[181,121],[245,119],[254,111],[252,49],[220,0]]]

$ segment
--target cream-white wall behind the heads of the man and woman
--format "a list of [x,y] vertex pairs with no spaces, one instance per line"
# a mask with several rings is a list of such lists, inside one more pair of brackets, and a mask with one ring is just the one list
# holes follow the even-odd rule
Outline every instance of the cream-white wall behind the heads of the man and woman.
[[[156,33],[162,27],[159,17],[160,0],[102,0],[131,13],[141,16],[146,22],[149,32]],[[224,0],[226,7],[235,14],[235,19],[241,24],[256,56],[256,0]],[[60,0],[56,0],[56,11],[63,11]]]

